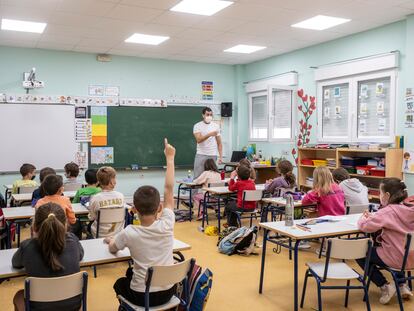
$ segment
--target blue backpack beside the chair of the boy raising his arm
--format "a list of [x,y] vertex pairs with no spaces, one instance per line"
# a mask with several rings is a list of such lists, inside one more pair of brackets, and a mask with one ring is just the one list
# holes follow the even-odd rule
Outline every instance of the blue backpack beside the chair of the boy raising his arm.
[[194,287],[190,294],[190,311],[204,310],[212,285],[213,273],[209,269],[206,269],[194,282]]

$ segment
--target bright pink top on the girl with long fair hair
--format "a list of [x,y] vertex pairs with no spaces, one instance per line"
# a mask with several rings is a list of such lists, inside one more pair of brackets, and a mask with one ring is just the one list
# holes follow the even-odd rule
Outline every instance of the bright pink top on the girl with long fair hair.
[[337,184],[332,184],[331,192],[320,196],[315,190],[308,192],[302,199],[302,204],[317,204],[318,216],[345,215],[345,196],[344,192]]

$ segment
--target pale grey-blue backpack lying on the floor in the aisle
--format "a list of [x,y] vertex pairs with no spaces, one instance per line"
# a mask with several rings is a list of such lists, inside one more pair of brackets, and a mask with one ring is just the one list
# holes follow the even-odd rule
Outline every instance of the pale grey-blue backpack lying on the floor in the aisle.
[[226,255],[255,254],[257,227],[241,227],[224,237],[218,246],[219,252]]

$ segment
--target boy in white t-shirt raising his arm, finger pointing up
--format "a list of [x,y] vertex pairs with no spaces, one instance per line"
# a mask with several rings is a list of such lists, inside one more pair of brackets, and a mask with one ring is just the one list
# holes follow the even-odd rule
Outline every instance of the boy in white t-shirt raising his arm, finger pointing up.
[[[134,261],[126,277],[114,284],[116,295],[122,295],[135,305],[144,306],[144,293],[147,269],[152,266],[174,264],[174,156],[175,149],[165,139],[167,172],[165,176],[164,203],[160,194],[152,186],[143,186],[134,193],[134,212],[138,213],[141,225],[129,225],[115,237],[108,237],[109,251],[116,253],[128,247]],[[151,307],[167,303],[176,292],[176,286],[151,287],[149,304]]]

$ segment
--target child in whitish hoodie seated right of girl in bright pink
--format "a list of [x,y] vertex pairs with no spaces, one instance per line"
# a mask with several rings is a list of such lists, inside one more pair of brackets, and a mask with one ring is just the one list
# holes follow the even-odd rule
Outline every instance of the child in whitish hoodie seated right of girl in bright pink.
[[343,167],[339,167],[332,172],[335,182],[339,185],[345,195],[346,204],[368,205],[368,188],[365,187],[358,178],[351,178]]

